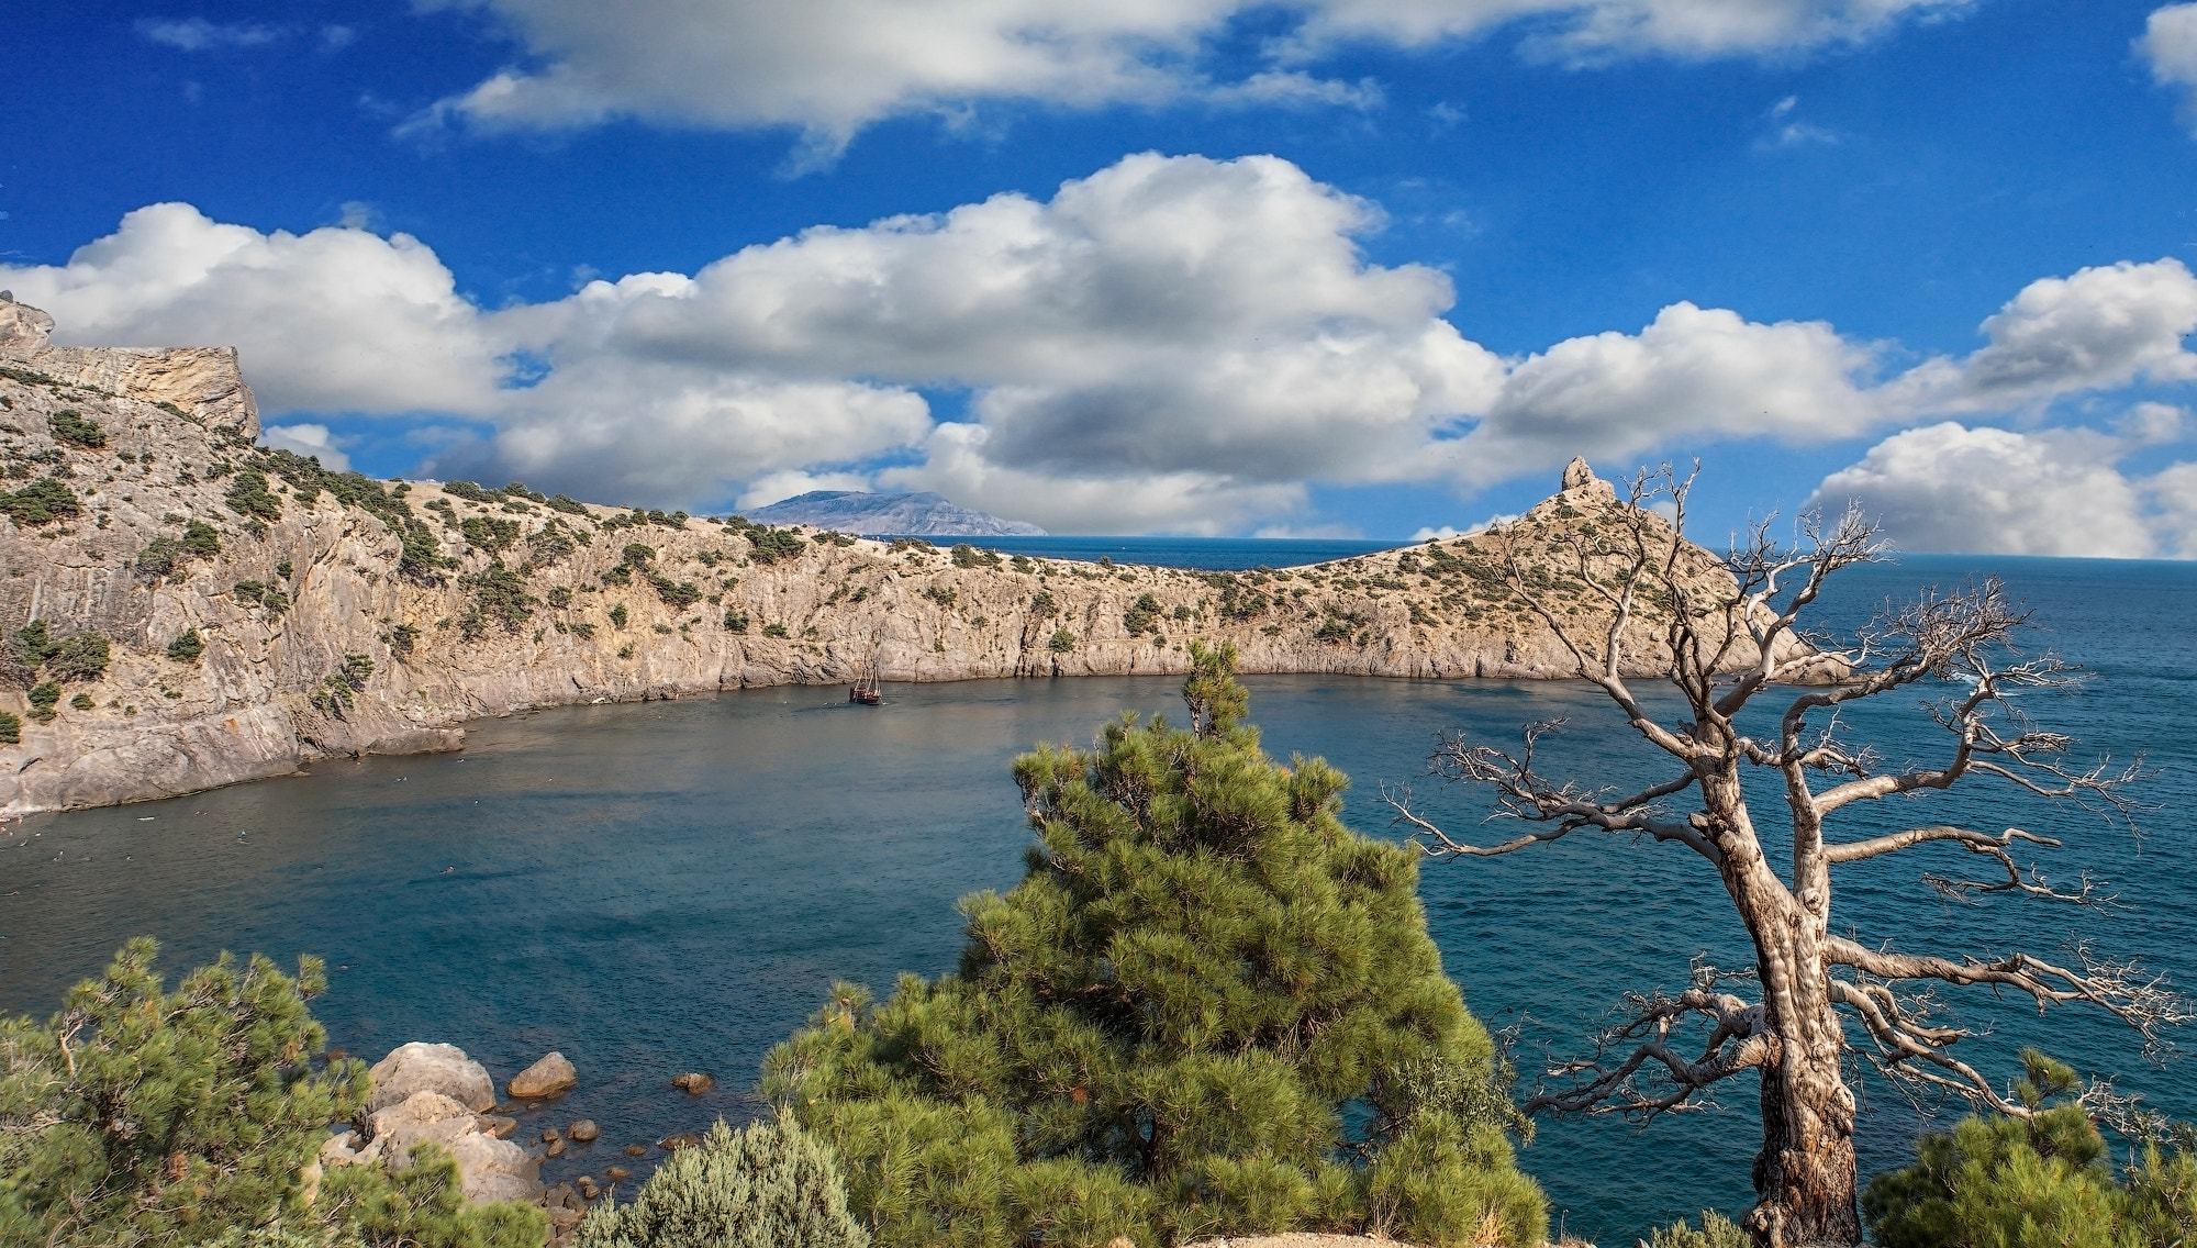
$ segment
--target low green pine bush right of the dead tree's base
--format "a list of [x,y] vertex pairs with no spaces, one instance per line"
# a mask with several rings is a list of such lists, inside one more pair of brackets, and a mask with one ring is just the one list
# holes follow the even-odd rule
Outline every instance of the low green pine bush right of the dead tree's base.
[[[1916,1165],[1870,1180],[1861,1211],[1883,1248],[2175,1248],[2197,1241],[2197,1156],[2146,1145],[2114,1173],[2074,1070],[2037,1050],[2015,1096],[2030,1116],[1969,1116],[1916,1143]],[[2061,1099],[2059,1103],[2052,1103]]]

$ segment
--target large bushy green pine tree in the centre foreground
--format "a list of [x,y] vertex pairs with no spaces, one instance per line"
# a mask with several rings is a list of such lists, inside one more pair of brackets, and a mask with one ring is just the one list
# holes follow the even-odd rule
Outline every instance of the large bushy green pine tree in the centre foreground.
[[1325,760],[1261,754],[1233,648],[1193,664],[1195,732],[1125,716],[1017,758],[1039,844],[1019,888],[962,899],[960,969],[883,1004],[837,987],[765,1092],[883,1248],[1540,1244],[1417,859],[1342,826]]

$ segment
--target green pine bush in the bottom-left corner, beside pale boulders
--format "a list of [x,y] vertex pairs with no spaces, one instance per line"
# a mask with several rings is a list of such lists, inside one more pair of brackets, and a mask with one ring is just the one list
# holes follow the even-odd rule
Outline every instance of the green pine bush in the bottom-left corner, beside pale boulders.
[[316,958],[290,978],[224,954],[167,991],[156,951],[132,940],[44,1026],[0,1019],[0,1244],[538,1248],[543,1213],[464,1206],[448,1154],[314,1191],[325,1125],[369,1088],[321,1059]]

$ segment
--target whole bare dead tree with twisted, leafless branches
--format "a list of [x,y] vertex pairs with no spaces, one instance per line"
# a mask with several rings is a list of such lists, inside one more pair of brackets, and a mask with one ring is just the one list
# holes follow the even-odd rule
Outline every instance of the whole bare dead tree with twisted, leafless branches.
[[[1716,870],[1753,940],[1755,965],[1731,973],[1696,960],[1685,991],[1628,995],[1621,1022],[1599,1037],[1595,1055],[1553,1066],[1525,1107],[1652,1118],[1698,1103],[1722,1079],[1755,1072],[1762,1151],[1753,1165],[1758,1200],[1744,1219],[1753,1241],[1859,1244],[1854,1096],[1843,1074],[1850,1055],[1909,1090],[2028,1114],[1953,1055],[1969,1033],[1933,1017],[1936,989],[2021,993],[2039,1011],[2089,1004],[2135,1028],[2146,1048],[2160,1046],[2160,1028],[2186,1022],[2190,1009],[2162,980],[2089,947],[2061,960],[2028,951],[1975,958],[1905,954],[1837,934],[1837,868],[1903,850],[1979,859],[1979,874],[1925,877],[1949,896],[2105,901],[2087,879],[2056,888],[2017,861],[2026,846],[2059,846],[2045,835],[1927,824],[1839,839],[1837,815],[1856,802],[1997,782],[2133,833],[2138,806],[2127,784],[2140,767],[2070,762],[2072,740],[2032,725],[2008,701],[2010,692],[2070,686],[2078,675],[2010,646],[2026,613],[1997,580],[1925,593],[1832,648],[1799,624],[1826,578],[1885,554],[1874,525],[1852,508],[1828,521],[1810,514],[1793,547],[1775,543],[1769,523],[1755,525],[1727,556],[1727,576],[1683,536],[1689,486],[1692,477],[1665,466],[1635,477],[1630,499],[1610,494],[1606,516],[1560,525],[1555,536],[1549,527],[1538,536],[1496,534],[1512,593],[1555,631],[1577,675],[1674,762],[1668,778],[1621,793],[1542,776],[1536,745],[1560,723],[1540,723],[1525,729],[1518,751],[1448,734],[1432,756],[1443,780],[1490,789],[1496,817],[1523,822],[1520,835],[1470,844],[1415,813],[1408,791],[1389,793],[1389,802],[1432,857],[1507,855],[1599,828],[1679,846]],[[1650,510],[1654,503],[1674,519]],[[1641,670],[1657,670],[1679,690],[1683,718],[1665,723],[1641,701],[1632,688]],[[1740,712],[1780,686],[1788,694],[1799,688],[1775,736],[1742,732]],[[1872,749],[1841,736],[1839,714],[1900,690],[1925,694],[1925,712],[1947,738],[1933,765],[1887,771]],[[1773,773],[1784,795],[1777,822],[1791,824],[1791,879],[1762,853],[1755,809],[1740,784],[1751,769]]]

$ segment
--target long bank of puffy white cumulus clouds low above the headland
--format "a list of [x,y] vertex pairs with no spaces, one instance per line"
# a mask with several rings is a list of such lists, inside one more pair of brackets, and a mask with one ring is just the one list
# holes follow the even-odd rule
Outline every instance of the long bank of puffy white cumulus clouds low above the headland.
[[[1573,455],[1870,437],[1839,488],[1867,486],[1887,514],[1914,501],[1909,530],[1940,488],[1927,464],[1995,455],[2041,472],[2021,477],[2034,499],[2103,499],[2078,525],[2012,516],[1997,527],[2023,536],[2006,541],[2182,549],[2160,527],[2166,486],[2116,468],[2190,437],[2182,406],[2129,395],[2096,442],[2034,428],[2054,400],[2197,380],[2197,277],[2175,259],[2039,279],[1973,354],[1894,371],[1892,345],[1830,323],[1694,303],[1501,358],[1446,319],[1443,272],[1367,261],[1375,204],[1272,156],[1138,154],[1050,198],[817,226],[499,310],[367,220],[261,233],[154,204],[68,264],[0,266],[0,288],[51,310],[62,343],[237,345],[270,428],[323,461],[341,453],[327,428],[352,428],[332,417],[433,420],[433,437],[413,428],[424,472],[602,501],[874,483],[1057,532],[1252,532],[1318,525],[1316,483],[1470,494]],[[1971,494],[1971,516],[2010,497]],[[2118,497],[2138,527],[2109,521]],[[2149,545],[2129,545],[2144,525]]]

